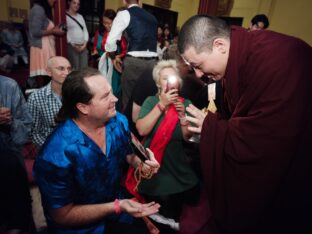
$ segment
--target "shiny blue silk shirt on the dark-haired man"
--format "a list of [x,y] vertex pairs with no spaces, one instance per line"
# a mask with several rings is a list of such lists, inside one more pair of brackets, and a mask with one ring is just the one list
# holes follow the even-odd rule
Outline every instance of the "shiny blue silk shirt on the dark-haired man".
[[53,223],[47,211],[70,203],[99,204],[122,198],[123,167],[126,155],[132,153],[129,133],[126,117],[117,113],[106,125],[105,155],[72,120],[60,124],[47,138],[33,173],[42,195],[49,231],[105,233],[107,219],[76,229],[64,229]]

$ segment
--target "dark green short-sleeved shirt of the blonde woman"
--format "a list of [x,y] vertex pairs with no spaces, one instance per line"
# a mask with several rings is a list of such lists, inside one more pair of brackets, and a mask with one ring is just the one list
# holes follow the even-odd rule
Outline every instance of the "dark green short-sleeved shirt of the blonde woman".
[[[144,118],[159,102],[158,96],[148,97],[141,108],[139,119]],[[191,102],[184,100],[184,106]],[[163,113],[151,133],[145,138],[144,146],[149,147],[151,141],[163,121]],[[198,183],[198,178],[189,164],[186,153],[182,146],[183,135],[181,125],[178,122],[173,131],[172,138],[164,151],[164,157],[160,170],[149,180],[142,180],[139,185],[139,192],[150,196],[162,196],[184,192]]]

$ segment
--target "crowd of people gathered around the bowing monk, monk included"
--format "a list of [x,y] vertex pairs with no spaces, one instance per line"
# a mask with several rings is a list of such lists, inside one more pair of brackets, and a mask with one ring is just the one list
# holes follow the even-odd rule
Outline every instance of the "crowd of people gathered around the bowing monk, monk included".
[[248,29],[196,15],[171,33],[137,0],[89,35],[79,0],[61,25],[55,2],[34,0],[29,61],[13,24],[0,37],[1,70],[21,58],[36,88],[0,76],[0,233],[36,232],[35,209],[46,233],[312,232],[308,44],[263,14]]

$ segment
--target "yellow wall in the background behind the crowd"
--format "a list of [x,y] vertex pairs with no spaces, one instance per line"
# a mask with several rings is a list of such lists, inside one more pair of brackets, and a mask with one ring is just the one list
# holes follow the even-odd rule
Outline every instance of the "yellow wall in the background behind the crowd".
[[[65,0],[59,0],[65,1]],[[122,0],[106,0],[106,8],[117,9]],[[155,0],[140,0],[140,3],[154,5]],[[177,11],[177,26],[197,14],[199,0],[172,0],[169,10]],[[10,17],[9,8],[17,9],[17,17]],[[266,14],[270,19],[270,30],[299,37],[312,46],[312,1],[311,0],[234,0],[230,16],[243,17],[243,27],[248,27],[256,14]],[[22,22],[20,10],[29,13],[29,0],[1,0],[0,21]]]

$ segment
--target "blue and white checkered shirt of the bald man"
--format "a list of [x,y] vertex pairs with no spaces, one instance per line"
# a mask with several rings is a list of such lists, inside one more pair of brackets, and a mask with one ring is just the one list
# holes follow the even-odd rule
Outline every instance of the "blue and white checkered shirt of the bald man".
[[37,146],[42,146],[55,128],[54,118],[62,106],[61,101],[52,92],[51,82],[29,96],[28,106],[33,118],[31,139]]

